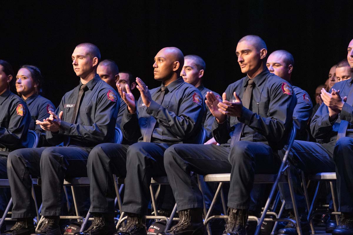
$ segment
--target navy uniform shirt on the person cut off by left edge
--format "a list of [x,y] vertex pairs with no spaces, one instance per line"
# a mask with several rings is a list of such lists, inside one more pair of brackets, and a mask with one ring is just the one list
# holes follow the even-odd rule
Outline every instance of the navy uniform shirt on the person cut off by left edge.
[[0,148],[23,148],[31,115],[26,103],[10,90],[0,95]]

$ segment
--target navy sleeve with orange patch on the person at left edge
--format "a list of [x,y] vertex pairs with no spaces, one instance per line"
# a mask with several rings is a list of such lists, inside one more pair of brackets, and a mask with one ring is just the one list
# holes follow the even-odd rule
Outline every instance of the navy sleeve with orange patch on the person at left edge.
[[[21,106],[23,108],[22,115],[17,112]],[[0,127],[0,143],[14,150],[21,146],[21,142],[27,138],[31,115],[24,102],[17,102],[10,109],[10,117],[8,128]]]

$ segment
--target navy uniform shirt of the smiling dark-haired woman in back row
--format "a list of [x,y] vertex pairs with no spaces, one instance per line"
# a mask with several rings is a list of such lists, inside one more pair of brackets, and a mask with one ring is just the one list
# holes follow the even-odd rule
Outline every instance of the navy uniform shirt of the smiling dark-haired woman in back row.
[[55,112],[55,106],[50,100],[37,94],[31,95],[26,100],[22,96],[22,99],[26,102],[31,114],[29,129],[35,131],[39,136],[40,141],[38,147],[44,146],[46,142],[46,131],[44,131],[40,125],[36,125],[36,120],[43,121],[43,119],[49,118],[49,111]]

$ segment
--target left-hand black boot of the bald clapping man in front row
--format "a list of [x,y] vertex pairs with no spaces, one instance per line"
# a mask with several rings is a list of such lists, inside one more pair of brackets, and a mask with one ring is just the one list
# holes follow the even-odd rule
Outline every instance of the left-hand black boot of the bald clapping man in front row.
[[92,213],[93,223],[84,232],[78,232],[74,235],[112,235],[116,232],[114,224],[114,215],[108,213]]

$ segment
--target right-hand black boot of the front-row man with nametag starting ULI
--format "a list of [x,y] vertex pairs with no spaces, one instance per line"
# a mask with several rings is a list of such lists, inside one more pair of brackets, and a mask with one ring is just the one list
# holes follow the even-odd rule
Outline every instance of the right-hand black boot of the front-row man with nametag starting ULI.
[[246,222],[249,210],[228,207],[226,230],[222,235],[246,235]]

